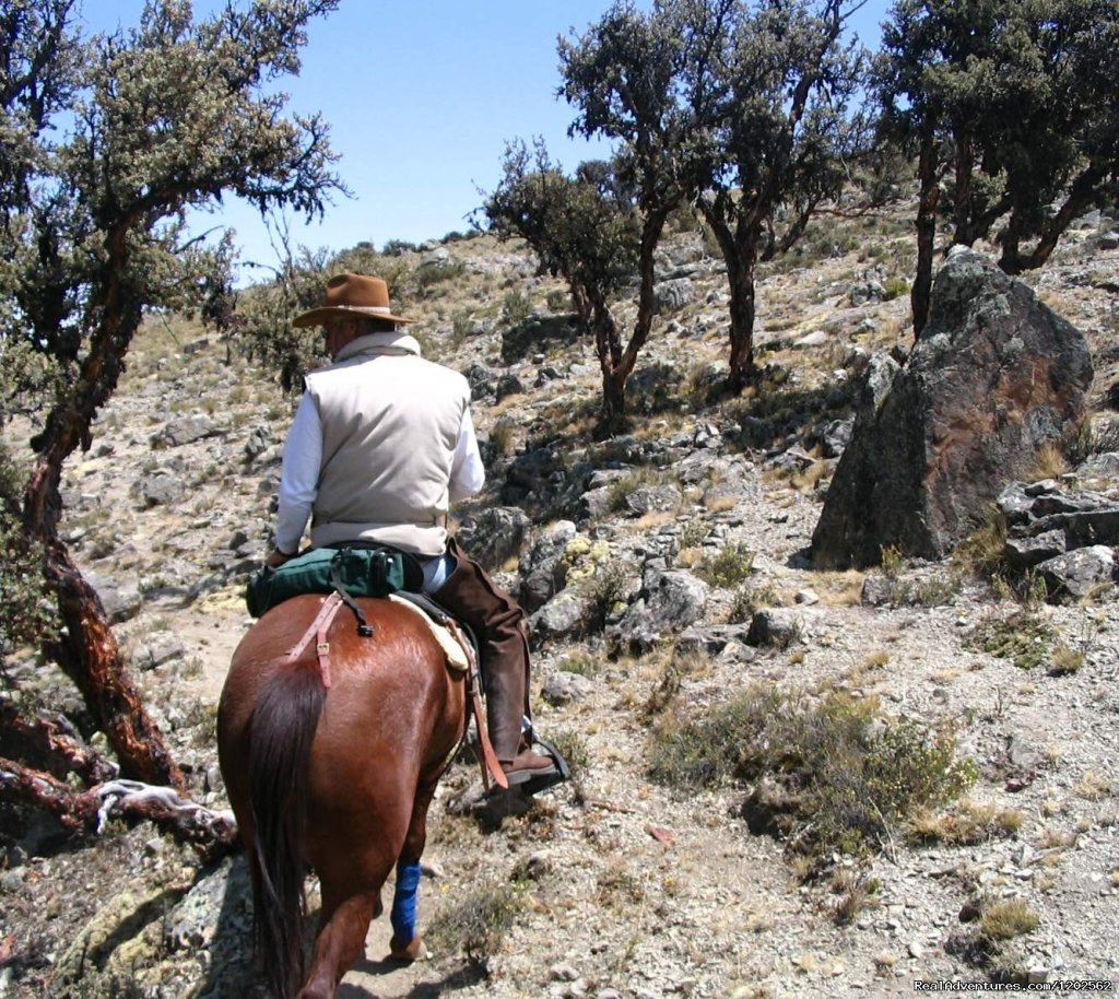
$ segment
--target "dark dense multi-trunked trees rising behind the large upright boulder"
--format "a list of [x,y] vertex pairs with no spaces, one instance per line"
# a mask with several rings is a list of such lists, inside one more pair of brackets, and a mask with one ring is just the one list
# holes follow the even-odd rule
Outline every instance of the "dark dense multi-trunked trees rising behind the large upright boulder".
[[[1042,266],[1119,171],[1113,0],[899,0],[875,76],[884,134],[918,160],[914,330],[939,217],[994,236],[1009,274]],[[1027,244],[1032,244],[1028,245]]]

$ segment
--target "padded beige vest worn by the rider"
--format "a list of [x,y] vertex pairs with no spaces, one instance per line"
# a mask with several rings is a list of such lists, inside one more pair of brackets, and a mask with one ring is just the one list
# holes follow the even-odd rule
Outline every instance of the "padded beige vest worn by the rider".
[[312,544],[376,540],[442,555],[467,379],[395,332],[359,337],[305,380],[322,423]]

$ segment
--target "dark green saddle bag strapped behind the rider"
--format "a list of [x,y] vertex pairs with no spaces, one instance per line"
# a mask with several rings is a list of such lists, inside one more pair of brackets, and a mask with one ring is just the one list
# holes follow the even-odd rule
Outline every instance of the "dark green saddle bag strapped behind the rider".
[[420,592],[423,568],[415,556],[387,545],[312,548],[279,568],[264,566],[248,581],[245,603],[253,618],[301,593],[342,590],[350,596]]

